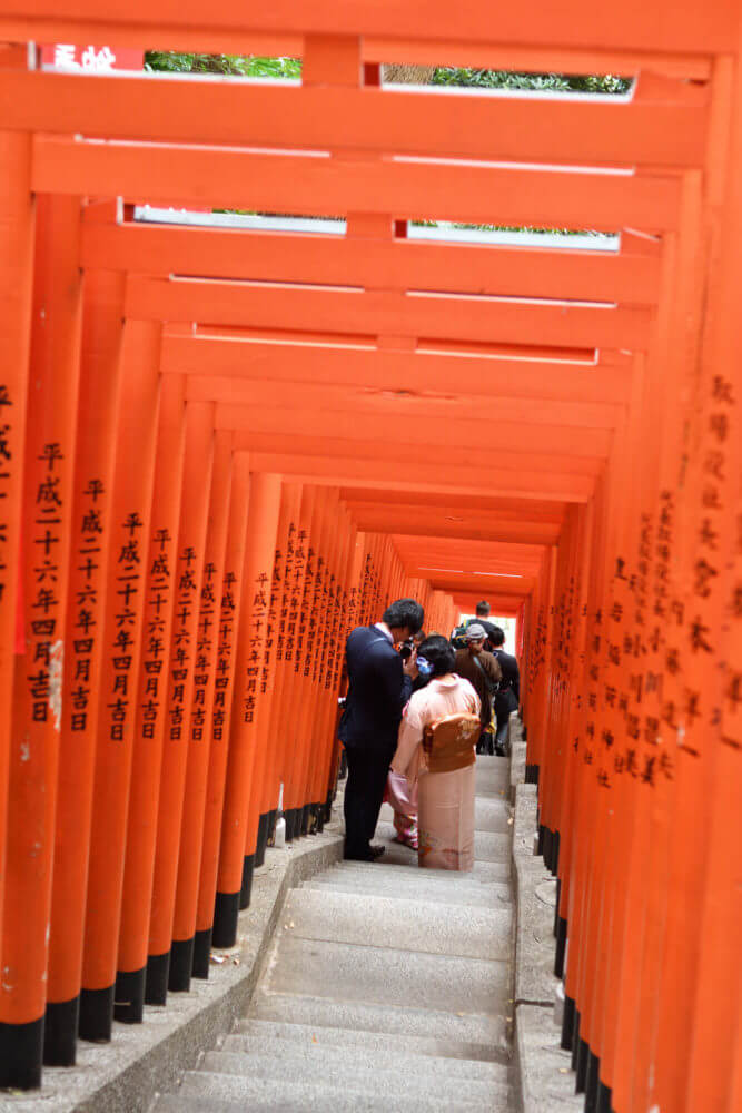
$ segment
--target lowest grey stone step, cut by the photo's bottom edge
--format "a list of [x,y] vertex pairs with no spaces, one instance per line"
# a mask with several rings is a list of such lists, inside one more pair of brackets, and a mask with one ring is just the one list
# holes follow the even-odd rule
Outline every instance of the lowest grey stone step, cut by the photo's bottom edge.
[[[197,1104],[190,1106],[191,1110],[200,1110],[204,1113],[227,1113],[227,1111],[249,1109],[276,1110],[281,1113],[295,1111],[295,1113],[306,1113],[310,1107],[328,1109],[333,1113],[389,1113],[394,1109],[394,1102],[403,1096],[395,1093],[393,1096],[386,1095],[378,1087],[370,1090],[358,1090],[347,1084],[334,1086],[329,1083],[313,1084],[308,1082],[289,1082],[280,1080],[278,1082],[267,1078],[241,1077],[237,1074],[212,1074],[207,1071],[191,1071],[184,1076],[180,1090],[175,1097],[177,1106],[171,1104],[168,1113],[182,1113],[186,1109],[185,1101],[195,1101]],[[210,1103],[220,1104],[210,1104]],[[400,1107],[397,1105],[396,1107]],[[432,1105],[429,1097],[404,1100],[404,1109],[410,1113],[434,1113],[439,1109]],[[479,1100],[476,1102],[456,1101],[455,1104],[446,1102],[446,1111],[465,1113],[468,1110],[488,1110],[489,1113],[507,1113],[509,1109],[509,1097],[497,1099],[497,1102]],[[165,1113],[161,1106],[158,1113]]]

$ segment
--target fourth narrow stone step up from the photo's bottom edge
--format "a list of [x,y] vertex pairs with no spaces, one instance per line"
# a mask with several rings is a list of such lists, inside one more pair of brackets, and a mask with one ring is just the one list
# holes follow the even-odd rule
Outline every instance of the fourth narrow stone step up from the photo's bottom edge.
[[[320,1047],[347,1047],[360,1045],[369,1052],[386,1056],[403,1047],[410,1055],[435,1055],[444,1058],[463,1058],[472,1062],[509,1062],[509,1054],[502,1047],[438,1040],[435,1036],[412,1036],[402,1032],[372,1032],[363,1028],[334,1028],[324,1024],[290,1024],[283,1021],[243,1020],[235,1025],[236,1035],[255,1036],[260,1041],[266,1054],[270,1043],[288,1042],[295,1046],[307,1044]],[[279,1054],[277,1052],[276,1054]]]

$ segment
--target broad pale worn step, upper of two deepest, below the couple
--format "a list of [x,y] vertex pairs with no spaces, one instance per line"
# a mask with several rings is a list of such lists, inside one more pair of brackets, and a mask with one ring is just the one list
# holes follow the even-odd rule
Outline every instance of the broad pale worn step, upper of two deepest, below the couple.
[[512,918],[508,907],[452,905],[442,915],[441,905],[434,899],[293,889],[279,930],[304,939],[332,939],[418,954],[507,959]]

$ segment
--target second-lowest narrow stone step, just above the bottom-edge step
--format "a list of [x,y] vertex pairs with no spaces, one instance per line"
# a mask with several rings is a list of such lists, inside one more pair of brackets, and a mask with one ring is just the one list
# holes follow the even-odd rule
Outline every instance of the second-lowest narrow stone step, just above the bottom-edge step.
[[508,1090],[505,1067],[499,1067],[503,1075],[494,1078],[446,1078],[445,1075],[433,1075],[429,1071],[423,1072],[419,1068],[417,1072],[409,1067],[387,1070],[383,1062],[369,1065],[359,1056],[344,1055],[343,1052],[334,1057],[319,1052],[315,1061],[306,1055],[298,1058],[270,1058],[265,1055],[210,1051],[204,1056],[199,1070],[209,1074],[275,1082],[278,1085],[285,1085],[290,1080],[318,1086],[342,1086],[360,1093],[386,1094],[389,1100],[404,1094],[439,1102],[479,1102],[506,1096]]

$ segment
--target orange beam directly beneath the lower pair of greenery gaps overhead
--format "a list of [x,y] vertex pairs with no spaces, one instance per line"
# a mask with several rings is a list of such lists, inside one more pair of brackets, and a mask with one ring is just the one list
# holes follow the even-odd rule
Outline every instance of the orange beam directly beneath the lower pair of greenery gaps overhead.
[[621,252],[424,243],[125,223],[82,232],[86,267],[149,275],[582,298],[653,305],[660,259],[636,245]]

